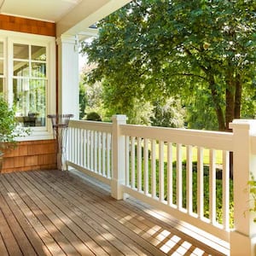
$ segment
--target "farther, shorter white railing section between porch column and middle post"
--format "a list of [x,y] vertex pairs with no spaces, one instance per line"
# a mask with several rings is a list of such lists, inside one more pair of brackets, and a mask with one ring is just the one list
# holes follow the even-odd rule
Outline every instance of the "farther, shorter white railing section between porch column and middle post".
[[110,184],[112,124],[71,121],[67,136],[67,165]]

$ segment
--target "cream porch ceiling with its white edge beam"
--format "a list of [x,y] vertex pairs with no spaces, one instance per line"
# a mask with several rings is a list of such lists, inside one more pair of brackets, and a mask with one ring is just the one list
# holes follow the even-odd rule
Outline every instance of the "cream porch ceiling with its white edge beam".
[[88,27],[131,0],[0,0],[0,13],[56,23],[61,34],[84,35]]

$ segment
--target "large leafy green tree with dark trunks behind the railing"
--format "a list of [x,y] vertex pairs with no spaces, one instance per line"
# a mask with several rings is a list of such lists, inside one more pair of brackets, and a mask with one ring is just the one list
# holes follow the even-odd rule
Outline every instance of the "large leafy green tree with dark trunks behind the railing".
[[87,79],[107,79],[123,107],[179,95],[194,111],[201,102],[218,130],[228,130],[241,109],[247,116],[256,110],[247,104],[256,91],[255,9],[254,0],[133,1],[102,20],[99,37],[83,45],[97,63]]

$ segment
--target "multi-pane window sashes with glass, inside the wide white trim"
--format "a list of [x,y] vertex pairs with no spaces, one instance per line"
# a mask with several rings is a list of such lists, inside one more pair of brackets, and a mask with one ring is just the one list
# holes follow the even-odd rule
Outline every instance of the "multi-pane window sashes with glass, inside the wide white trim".
[[46,47],[13,44],[13,95],[18,121],[44,126],[46,117]]

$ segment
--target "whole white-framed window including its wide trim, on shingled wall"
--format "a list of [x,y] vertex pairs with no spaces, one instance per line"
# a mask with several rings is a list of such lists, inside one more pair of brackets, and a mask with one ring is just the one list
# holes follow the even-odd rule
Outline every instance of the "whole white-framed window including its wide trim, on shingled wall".
[[[51,138],[55,113],[55,38],[0,31],[0,92],[15,107],[30,139]],[[27,139],[27,138],[26,138]]]

